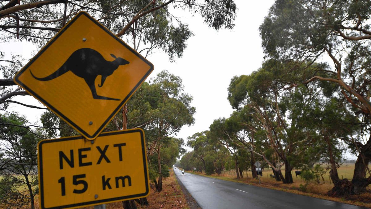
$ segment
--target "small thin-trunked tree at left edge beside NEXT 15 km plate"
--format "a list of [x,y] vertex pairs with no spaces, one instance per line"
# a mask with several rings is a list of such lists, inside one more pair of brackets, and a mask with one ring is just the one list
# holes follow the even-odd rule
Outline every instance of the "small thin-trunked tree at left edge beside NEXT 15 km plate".
[[35,208],[38,194],[36,132],[17,114],[0,114],[0,203]]

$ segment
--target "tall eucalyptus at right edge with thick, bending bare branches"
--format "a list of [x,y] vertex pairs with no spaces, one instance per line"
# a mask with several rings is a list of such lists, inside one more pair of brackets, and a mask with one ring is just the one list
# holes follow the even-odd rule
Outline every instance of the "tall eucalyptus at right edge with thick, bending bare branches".
[[[297,60],[307,66],[323,58],[308,79],[298,83],[325,81],[339,87],[334,93],[351,105],[364,121],[364,136],[349,144],[357,147],[352,184],[354,193],[365,190],[371,160],[370,126],[370,15],[367,0],[277,0],[260,26],[262,46],[269,58]],[[298,84],[296,83],[296,84]]]

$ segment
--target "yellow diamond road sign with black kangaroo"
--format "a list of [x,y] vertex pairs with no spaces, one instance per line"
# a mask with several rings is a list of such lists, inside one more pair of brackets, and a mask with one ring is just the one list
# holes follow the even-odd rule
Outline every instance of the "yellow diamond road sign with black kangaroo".
[[14,81],[94,139],[153,65],[85,12],[78,13]]

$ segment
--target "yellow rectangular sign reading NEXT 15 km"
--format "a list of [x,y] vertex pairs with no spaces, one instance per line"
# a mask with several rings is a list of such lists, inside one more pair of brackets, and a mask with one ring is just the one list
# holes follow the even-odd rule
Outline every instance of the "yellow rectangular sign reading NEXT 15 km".
[[40,141],[41,208],[74,208],[149,194],[142,129],[104,132],[93,141],[72,136]]

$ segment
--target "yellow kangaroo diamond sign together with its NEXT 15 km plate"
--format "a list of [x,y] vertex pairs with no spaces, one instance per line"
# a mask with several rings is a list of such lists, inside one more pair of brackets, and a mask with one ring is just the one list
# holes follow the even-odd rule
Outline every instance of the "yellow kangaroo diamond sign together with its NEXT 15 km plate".
[[101,132],[153,69],[79,12],[15,75],[16,84],[82,135],[37,145],[40,208],[105,209],[148,196],[144,131]]

